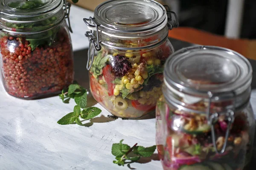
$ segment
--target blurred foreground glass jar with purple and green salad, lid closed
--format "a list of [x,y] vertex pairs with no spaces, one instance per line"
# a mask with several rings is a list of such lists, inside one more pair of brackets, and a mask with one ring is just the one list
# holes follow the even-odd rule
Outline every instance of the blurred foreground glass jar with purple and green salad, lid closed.
[[250,62],[213,46],[183,48],[171,57],[156,108],[164,170],[242,170],[255,134]]

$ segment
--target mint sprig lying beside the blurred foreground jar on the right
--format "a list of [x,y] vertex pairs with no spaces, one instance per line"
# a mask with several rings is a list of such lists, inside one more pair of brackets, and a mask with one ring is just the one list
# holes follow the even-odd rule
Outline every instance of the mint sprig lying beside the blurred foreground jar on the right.
[[[112,145],[111,153],[116,156],[116,160],[113,161],[114,164],[119,166],[124,166],[125,164],[131,164],[138,161],[141,157],[150,157],[156,150],[156,145],[151,147],[137,146],[137,143],[133,147],[128,144],[123,144],[123,140],[119,143],[114,143]],[[128,161],[127,161],[128,160]]]

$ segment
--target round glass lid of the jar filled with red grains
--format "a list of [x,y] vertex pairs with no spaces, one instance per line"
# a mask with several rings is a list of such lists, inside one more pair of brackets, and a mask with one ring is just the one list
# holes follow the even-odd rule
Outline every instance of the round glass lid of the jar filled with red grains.
[[0,3],[0,17],[2,20],[30,21],[34,17],[49,12],[56,12],[62,8],[62,0],[3,0]]

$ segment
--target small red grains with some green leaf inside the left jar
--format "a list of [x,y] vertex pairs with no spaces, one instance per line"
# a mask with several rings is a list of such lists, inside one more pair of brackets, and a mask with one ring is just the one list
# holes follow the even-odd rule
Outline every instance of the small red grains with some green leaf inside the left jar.
[[0,37],[2,81],[8,94],[33,99],[57,94],[73,82],[73,51],[67,29],[48,33],[49,37],[39,39]]

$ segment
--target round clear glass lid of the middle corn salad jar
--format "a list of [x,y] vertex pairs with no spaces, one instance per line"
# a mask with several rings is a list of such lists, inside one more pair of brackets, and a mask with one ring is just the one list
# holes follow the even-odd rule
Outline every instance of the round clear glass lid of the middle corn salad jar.
[[164,6],[153,0],[108,0],[96,7],[94,17],[104,28],[133,32],[156,27],[167,16]]

